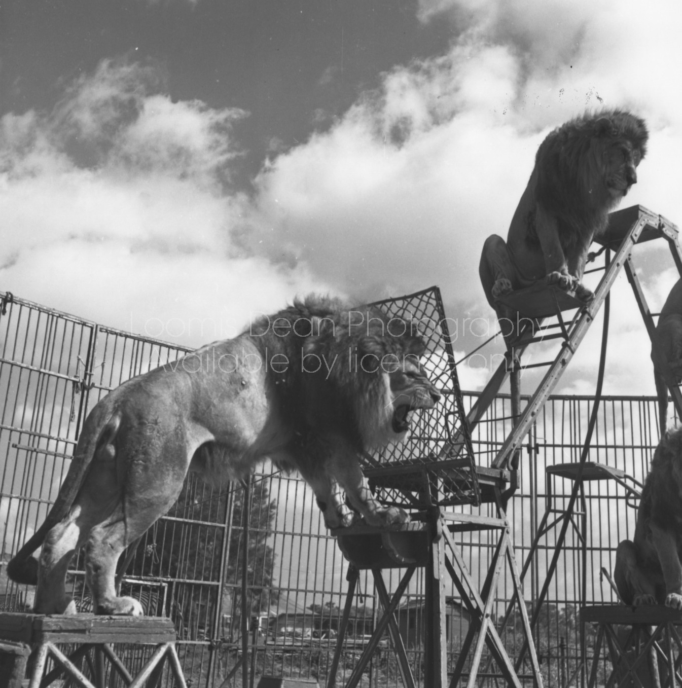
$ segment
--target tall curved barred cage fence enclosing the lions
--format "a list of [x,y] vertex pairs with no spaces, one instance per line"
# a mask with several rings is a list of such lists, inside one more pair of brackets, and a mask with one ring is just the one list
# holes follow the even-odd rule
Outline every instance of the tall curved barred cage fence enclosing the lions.
[[[442,314],[437,292],[427,290],[407,301],[393,300],[390,312],[434,319]],[[410,301],[412,299],[412,301]],[[88,411],[124,380],[182,356],[182,347],[112,330],[0,292],[0,608],[28,611],[33,589],[8,581],[5,564],[43,521],[67,471],[78,432]],[[434,305],[435,304],[435,305]],[[387,308],[386,303],[383,307]],[[447,325],[447,322],[445,323]],[[394,453],[366,458],[374,464],[401,465],[414,461],[451,460],[458,424],[476,395],[458,387],[447,327],[433,328],[427,367],[444,391],[443,413],[425,413],[416,423],[416,438]],[[460,395],[462,409],[458,408]],[[561,510],[571,493],[571,481],[547,472],[554,464],[577,461],[594,399],[554,396],[544,406],[524,440],[519,488],[509,502],[509,519],[518,561],[526,559],[533,535],[548,508]],[[509,398],[495,400],[487,422],[465,438],[469,464],[454,468],[455,481],[469,495],[453,500],[474,508],[475,489],[467,485],[474,447],[494,455],[509,432]],[[498,420],[496,420],[498,419]],[[654,398],[606,397],[590,445],[590,461],[621,469],[641,481],[658,442]],[[468,445],[466,443],[469,443]],[[451,466],[448,466],[448,471]],[[447,471],[435,471],[449,480]],[[388,501],[405,499],[400,485],[383,486]],[[395,490],[394,494],[390,494]],[[447,491],[445,491],[447,493]],[[615,601],[602,570],[610,573],[615,548],[632,537],[635,508],[631,494],[615,480],[586,482],[584,514],[577,517],[560,552],[557,572],[537,623],[537,649],[546,686],[571,684],[579,662],[580,603]],[[462,506],[463,505],[463,506]],[[484,506],[482,508],[489,508]],[[178,502],[120,561],[120,585],[136,596],[147,614],[168,616],[178,632],[184,673],[193,688],[242,685],[235,667],[243,660],[242,632],[248,629],[251,685],[264,674],[315,678],[326,685],[334,654],[341,608],[345,599],[348,563],[324,527],[312,491],[296,474],[287,475],[264,464],[251,480],[251,499],[244,513],[240,484],[224,488],[188,477]],[[579,536],[579,519],[586,519],[586,541]],[[244,524],[248,551],[244,551]],[[549,529],[537,555],[529,561],[524,587],[532,604],[544,583],[557,534]],[[495,546],[485,532],[460,536],[463,556],[474,577],[482,580]],[[583,564],[586,557],[586,566]],[[242,562],[246,557],[246,603],[242,604]],[[122,569],[125,568],[125,571]],[[387,575],[397,585],[401,571]],[[585,581],[581,599],[582,580]],[[495,619],[502,619],[513,590],[503,580]],[[70,572],[78,607],[87,611],[82,559]],[[449,665],[458,658],[468,628],[467,612],[455,589],[446,590]],[[420,572],[409,585],[396,620],[416,680],[423,685],[424,581]],[[242,608],[248,619],[242,623]],[[337,685],[343,685],[371,634],[379,603],[371,575],[361,574],[359,596],[351,611]],[[512,618],[500,636],[511,656],[520,650],[519,620]],[[388,637],[379,645],[363,675],[365,688],[401,686]],[[588,642],[588,647],[593,643]],[[122,648],[129,659],[144,659],[144,650]],[[137,654],[135,654],[137,653]],[[169,679],[166,677],[166,680]],[[494,685],[482,678],[483,685]],[[112,679],[111,685],[116,680]],[[527,681],[528,685],[531,682]]]

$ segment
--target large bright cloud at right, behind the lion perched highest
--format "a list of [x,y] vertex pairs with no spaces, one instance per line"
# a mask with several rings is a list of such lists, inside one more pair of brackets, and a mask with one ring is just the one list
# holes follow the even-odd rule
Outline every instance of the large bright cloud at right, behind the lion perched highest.
[[[646,12],[615,0],[420,3],[423,21],[444,16],[459,32],[447,54],[394,67],[334,127],[259,175],[253,238],[268,255],[284,244],[332,284],[367,296],[438,283],[449,316],[489,317],[477,269],[485,237],[506,235],[546,133],[601,105],[628,107],[650,127],[623,206],[682,217],[674,186],[682,90],[672,73],[682,61],[679,3]],[[643,256],[648,286],[660,269],[654,254]],[[593,388],[599,336],[590,332],[566,389]],[[458,346],[478,343],[469,336]],[[612,310],[607,391],[652,391],[648,347],[634,300]],[[478,374],[470,383],[479,386]]]

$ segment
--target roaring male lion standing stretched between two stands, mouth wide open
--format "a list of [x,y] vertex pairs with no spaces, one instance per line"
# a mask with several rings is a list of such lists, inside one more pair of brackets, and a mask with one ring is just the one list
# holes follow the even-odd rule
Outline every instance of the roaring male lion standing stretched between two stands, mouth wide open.
[[169,510],[188,470],[220,484],[266,458],[301,473],[329,528],[352,522],[343,492],[368,524],[405,522],[372,497],[358,456],[403,440],[412,411],[438,401],[423,351],[408,321],[308,297],[128,380],[89,413],[56,502],[8,564],[10,578],[37,583],[36,612],[75,613],[65,575],[84,546],[94,610],[142,614],[116,594],[121,552]]

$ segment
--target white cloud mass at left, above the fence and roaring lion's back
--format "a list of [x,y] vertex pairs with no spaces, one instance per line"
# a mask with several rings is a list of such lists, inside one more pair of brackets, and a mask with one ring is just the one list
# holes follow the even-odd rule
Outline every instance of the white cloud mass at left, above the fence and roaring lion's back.
[[159,87],[157,69],[105,61],[51,113],[0,120],[3,288],[115,327],[193,319],[218,334],[324,288],[231,238],[248,212],[228,169],[244,113]]

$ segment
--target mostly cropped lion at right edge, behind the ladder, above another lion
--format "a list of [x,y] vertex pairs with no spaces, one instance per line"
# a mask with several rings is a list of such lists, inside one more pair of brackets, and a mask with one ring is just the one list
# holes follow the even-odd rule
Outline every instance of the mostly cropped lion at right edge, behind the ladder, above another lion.
[[[662,353],[679,385],[682,383],[682,279],[676,281],[668,298],[665,299],[656,325],[656,334]],[[663,437],[668,424],[668,386],[665,385],[653,351],[651,359],[654,362],[654,380],[659,398],[659,423]]]

